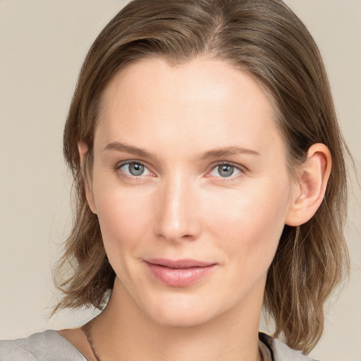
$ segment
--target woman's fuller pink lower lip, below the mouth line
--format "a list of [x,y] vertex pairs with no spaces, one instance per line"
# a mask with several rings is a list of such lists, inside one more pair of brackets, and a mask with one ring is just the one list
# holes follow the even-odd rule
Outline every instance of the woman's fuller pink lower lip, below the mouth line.
[[171,287],[190,286],[207,276],[216,264],[207,267],[169,268],[159,264],[147,263],[152,275],[161,283]]

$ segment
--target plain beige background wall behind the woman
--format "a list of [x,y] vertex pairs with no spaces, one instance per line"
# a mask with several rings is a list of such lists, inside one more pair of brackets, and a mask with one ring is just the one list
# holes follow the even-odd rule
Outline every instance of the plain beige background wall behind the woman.
[[[61,312],[51,265],[71,227],[62,132],[87,49],[127,1],[0,0],[0,338],[77,326],[87,312]],[[345,139],[361,161],[361,1],[288,0],[324,55]],[[361,360],[360,190],[351,195],[350,283],[332,300],[322,360]],[[262,329],[267,326],[262,322]],[[271,331],[271,330],[269,330]]]

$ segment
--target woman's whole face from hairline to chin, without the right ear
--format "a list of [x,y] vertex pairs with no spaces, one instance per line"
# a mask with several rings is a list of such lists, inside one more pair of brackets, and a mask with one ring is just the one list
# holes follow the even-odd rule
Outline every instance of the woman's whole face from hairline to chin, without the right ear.
[[293,187],[272,110],[216,59],[143,59],[111,80],[88,200],[129,305],[181,326],[259,314]]

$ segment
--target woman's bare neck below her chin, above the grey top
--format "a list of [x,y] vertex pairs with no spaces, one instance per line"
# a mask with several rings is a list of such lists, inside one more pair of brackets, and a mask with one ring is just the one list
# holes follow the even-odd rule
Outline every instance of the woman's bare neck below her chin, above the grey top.
[[116,281],[106,310],[92,322],[92,339],[102,361],[260,360],[262,302],[259,307],[229,310],[209,322],[184,327],[154,322],[129,298]]

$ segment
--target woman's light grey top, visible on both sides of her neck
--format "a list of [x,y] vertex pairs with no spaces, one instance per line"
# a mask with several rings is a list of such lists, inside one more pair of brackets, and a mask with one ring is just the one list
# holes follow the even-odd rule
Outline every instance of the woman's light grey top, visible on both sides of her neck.
[[[266,334],[259,333],[259,346],[265,361],[313,360]],[[87,361],[87,359],[57,331],[47,330],[28,338],[0,341],[0,361]]]

